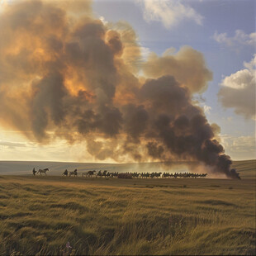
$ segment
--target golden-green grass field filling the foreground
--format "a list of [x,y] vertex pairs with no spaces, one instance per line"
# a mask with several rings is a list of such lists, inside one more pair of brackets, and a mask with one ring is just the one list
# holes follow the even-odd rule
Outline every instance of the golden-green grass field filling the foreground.
[[254,255],[255,164],[235,162],[241,180],[2,175],[0,254]]

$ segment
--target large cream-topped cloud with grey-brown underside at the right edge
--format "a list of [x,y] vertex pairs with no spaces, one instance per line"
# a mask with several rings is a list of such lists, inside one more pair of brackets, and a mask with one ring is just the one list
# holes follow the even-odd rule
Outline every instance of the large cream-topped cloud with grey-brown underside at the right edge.
[[255,64],[256,55],[249,63],[244,63],[247,69],[225,77],[220,83],[219,100],[223,107],[234,108],[235,113],[246,118],[255,119]]

